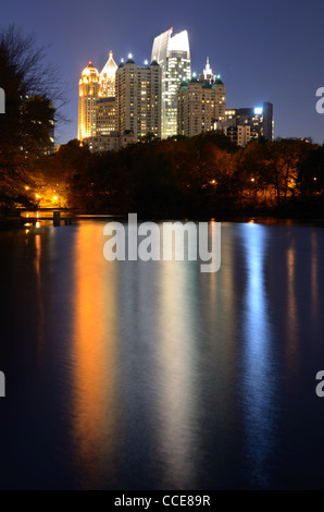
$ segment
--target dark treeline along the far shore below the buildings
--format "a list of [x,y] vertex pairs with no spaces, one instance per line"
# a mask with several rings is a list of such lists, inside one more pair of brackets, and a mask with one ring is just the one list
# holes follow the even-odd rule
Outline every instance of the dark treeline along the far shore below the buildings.
[[[94,155],[78,141],[38,160],[39,185],[59,186],[65,206],[146,218],[224,214],[324,214],[324,146],[253,141],[222,133],[138,143]],[[57,184],[57,185],[55,185]]]

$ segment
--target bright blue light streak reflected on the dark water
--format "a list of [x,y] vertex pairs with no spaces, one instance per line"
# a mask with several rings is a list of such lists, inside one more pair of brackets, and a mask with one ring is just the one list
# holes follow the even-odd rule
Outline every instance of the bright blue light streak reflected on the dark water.
[[266,487],[270,481],[270,458],[275,444],[273,340],[264,268],[267,234],[261,224],[241,227],[247,269],[242,318],[242,414],[247,464],[258,487]]

